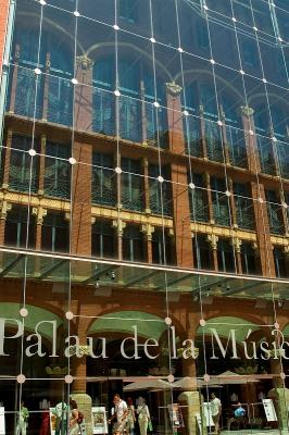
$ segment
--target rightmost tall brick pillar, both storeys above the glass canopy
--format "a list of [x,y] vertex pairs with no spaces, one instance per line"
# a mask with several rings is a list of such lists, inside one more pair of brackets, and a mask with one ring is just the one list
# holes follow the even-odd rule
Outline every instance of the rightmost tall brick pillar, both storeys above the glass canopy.
[[[260,158],[256,146],[253,109],[249,107],[241,108],[243,129],[246,132],[246,149],[249,170],[256,174],[261,171]],[[271,243],[271,231],[265,203],[265,190],[263,184],[257,181],[251,182],[252,199],[256,222],[256,237],[260,251],[262,274],[267,277],[275,277],[275,264],[273,257],[273,247]]]

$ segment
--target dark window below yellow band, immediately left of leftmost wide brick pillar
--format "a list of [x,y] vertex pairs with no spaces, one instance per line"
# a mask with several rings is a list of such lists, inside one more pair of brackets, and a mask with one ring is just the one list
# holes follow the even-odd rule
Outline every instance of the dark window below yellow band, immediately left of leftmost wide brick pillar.
[[70,250],[70,224],[62,212],[48,212],[42,224],[45,251],[67,252]]

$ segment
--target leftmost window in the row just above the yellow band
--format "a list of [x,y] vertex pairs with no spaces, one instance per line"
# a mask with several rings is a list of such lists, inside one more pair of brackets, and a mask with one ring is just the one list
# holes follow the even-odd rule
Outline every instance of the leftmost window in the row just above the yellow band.
[[[37,145],[35,140],[36,150]],[[32,158],[28,154],[32,147],[30,137],[13,135],[9,170],[9,187],[13,190],[37,191],[39,157]]]

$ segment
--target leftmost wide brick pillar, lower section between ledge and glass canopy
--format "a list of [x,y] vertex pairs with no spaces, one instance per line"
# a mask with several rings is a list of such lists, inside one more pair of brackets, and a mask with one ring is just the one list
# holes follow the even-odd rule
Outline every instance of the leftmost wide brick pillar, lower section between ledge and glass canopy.
[[91,145],[75,141],[72,165],[71,253],[91,254]]

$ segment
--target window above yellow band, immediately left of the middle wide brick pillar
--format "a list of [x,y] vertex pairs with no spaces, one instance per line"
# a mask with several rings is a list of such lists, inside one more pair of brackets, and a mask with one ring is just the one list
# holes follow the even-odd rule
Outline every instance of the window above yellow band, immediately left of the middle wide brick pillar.
[[[149,185],[150,185],[150,209],[154,214],[172,214],[172,189],[171,183],[160,183],[158,176],[160,169],[158,164],[150,164],[149,166]],[[164,179],[171,179],[167,166],[162,167],[162,176]]]

